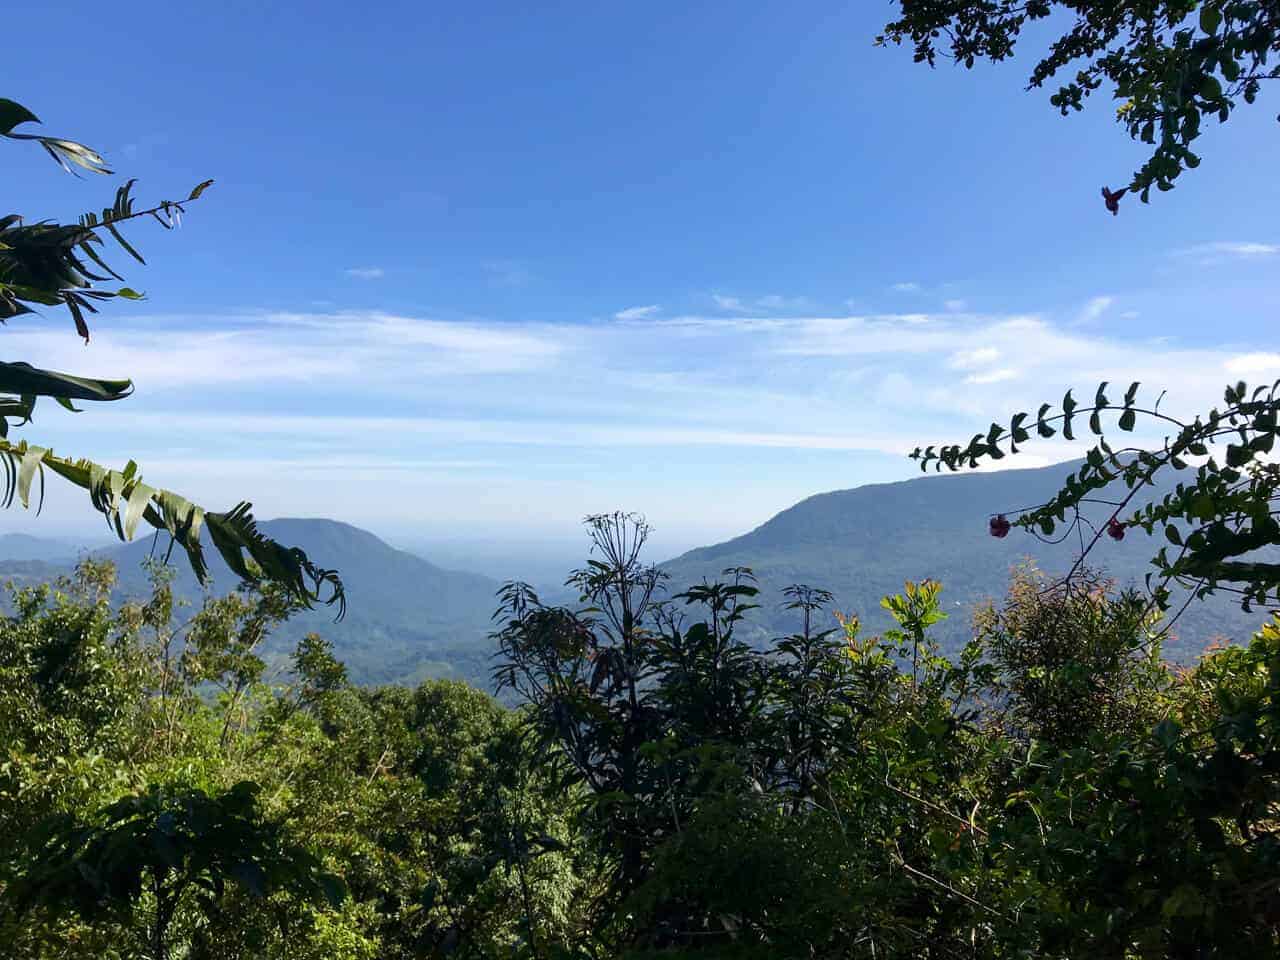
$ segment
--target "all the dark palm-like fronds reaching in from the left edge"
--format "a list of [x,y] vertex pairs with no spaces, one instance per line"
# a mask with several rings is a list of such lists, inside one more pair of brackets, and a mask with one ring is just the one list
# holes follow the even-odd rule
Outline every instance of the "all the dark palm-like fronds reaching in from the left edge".
[[[0,137],[40,143],[68,172],[74,164],[90,173],[111,173],[102,157],[83,143],[15,132],[17,127],[38,122],[22,104],[0,97]],[[0,216],[0,323],[28,319],[38,306],[64,306],[76,323],[76,332],[88,343],[84,314],[96,314],[95,303],[115,298],[142,300],[142,294],[129,287],[101,288],[109,280],[123,280],[100,252],[104,232],[129,256],[145,262],[124,239],[120,224],[151,218],[172,229],[180,221],[183,204],[198,200],[212,180],[193,187],[182,202],[165,200],[147,210],[133,209],[133,183],[128,180],[115,192],[111,206],[101,212],[83,214],[76,224],[27,223],[19,214]],[[169,538],[170,549],[182,547],[192,570],[204,580],[209,561],[201,536],[207,531],[214,550],[237,576],[284,585],[307,605],[315,600],[337,604],[340,617],[346,600],[337,571],[316,566],[298,548],[264,536],[250,512],[250,503],[241,502],[225,512],[206,511],[173,490],[145,484],[133,461],[123,470],[110,470],[93,461],[60,457],[51,449],[9,436],[12,429],[31,422],[41,397],[79,412],[76,401],[111,402],[131,393],[133,383],[127,379],[84,378],[41,370],[26,361],[0,361],[0,467],[4,468],[0,506],[12,507],[17,499],[29,507],[32,485],[38,481],[38,508],[44,502],[47,470],[87,492],[93,508],[122,540],[132,540],[138,526],[146,524],[157,535]]]

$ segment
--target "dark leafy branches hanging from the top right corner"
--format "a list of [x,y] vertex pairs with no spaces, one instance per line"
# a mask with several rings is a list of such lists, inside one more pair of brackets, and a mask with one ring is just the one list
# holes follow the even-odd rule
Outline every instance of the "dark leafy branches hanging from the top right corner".
[[[909,42],[916,61],[940,54],[964,67],[1005,60],[1023,32],[1056,18],[1070,26],[1036,64],[1033,88],[1060,83],[1051,102],[1064,115],[1110,84],[1116,119],[1151,156],[1119,191],[1103,189],[1119,210],[1128,191],[1143,202],[1199,166],[1192,143],[1204,119],[1225,123],[1253,104],[1263,81],[1280,78],[1280,3],[1275,0],[901,0],[901,17],[877,44]],[[1074,69],[1074,76],[1061,79]]]

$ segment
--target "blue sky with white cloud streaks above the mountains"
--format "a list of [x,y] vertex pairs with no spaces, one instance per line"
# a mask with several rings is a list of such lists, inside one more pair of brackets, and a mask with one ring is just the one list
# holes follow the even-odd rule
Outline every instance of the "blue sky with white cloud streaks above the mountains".
[[[890,4],[46,6],[9,12],[49,42],[3,92],[118,177],[10,145],[10,206],[216,184],[180,232],[128,232],[148,300],[88,347],[56,312],[3,332],[138,385],[23,435],[212,508],[399,540],[627,508],[675,550],[1069,385],[1190,410],[1280,375],[1274,96],[1111,218],[1142,152],[1105,97],[1064,119],[1023,91],[1043,36],[931,72],[872,46]],[[52,503],[4,524],[96,529]]]

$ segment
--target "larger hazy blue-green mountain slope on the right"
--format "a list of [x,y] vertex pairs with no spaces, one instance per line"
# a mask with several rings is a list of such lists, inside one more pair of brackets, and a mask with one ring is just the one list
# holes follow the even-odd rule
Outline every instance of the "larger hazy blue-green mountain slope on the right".
[[[974,605],[1001,596],[1014,566],[1032,558],[1050,573],[1070,567],[1078,544],[1047,545],[1019,530],[998,540],[988,535],[987,520],[1048,499],[1075,466],[929,475],[823,493],[749,534],[660,566],[676,590],[716,579],[726,567],[751,567],[762,586],[762,609],[753,616],[776,634],[795,628],[795,617],[781,609],[781,591],[791,584],[829,590],[837,609],[856,613],[868,628],[879,631],[891,622],[881,598],[900,591],[906,580],[932,577],[942,582],[951,614],[940,625],[940,635],[954,650],[968,639]],[[1103,539],[1091,559],[1120,584],[1140,586],[1158,547],[1140,531],[1130,531],[1121,543]],[[1193,603],[1166,653],[1194,658],[1212,637],[1244,639],[1261,620],[1226,598]]]

